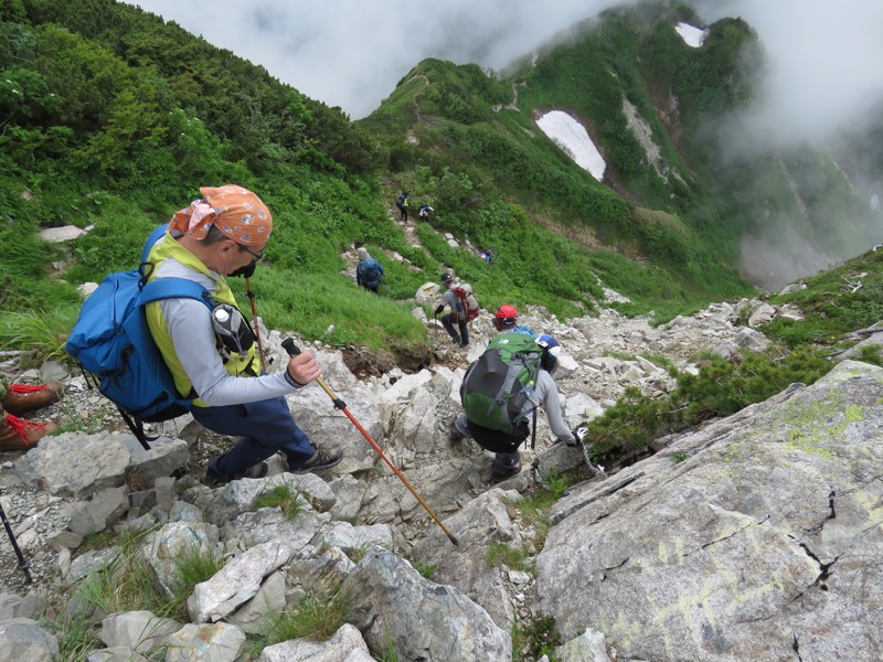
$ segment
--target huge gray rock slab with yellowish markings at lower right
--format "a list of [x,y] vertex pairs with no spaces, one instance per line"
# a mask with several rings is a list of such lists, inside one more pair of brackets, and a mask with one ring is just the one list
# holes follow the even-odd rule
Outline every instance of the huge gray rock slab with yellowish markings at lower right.
[[684,436],[558,502],[533,609],[628,659],[880,660],[880,439],[851,362]]

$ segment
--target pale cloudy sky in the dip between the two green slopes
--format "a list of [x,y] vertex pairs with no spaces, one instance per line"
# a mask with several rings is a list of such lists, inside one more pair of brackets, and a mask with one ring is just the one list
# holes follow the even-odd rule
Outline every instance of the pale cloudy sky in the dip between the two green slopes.
[[500,70],[621,0],[141,0],[307,96],[369,115],[426,57]]

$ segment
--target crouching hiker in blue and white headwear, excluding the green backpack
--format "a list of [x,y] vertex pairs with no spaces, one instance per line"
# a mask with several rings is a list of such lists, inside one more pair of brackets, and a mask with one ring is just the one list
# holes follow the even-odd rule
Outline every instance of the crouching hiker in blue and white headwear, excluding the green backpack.
[[491,465],[491,480],[499,482],[521,472],[521,453],[518,448],[530,436],[530,420],[539,407],[545,409],[545,416],[552,434],[568,446],[575,446],[578,441],[574,434],[564,423],[564,412],[558,396],[558,388],[555,385],[553,375],[557,367],[561,345],[552,335],[541,335],[536,339],[536,344],[542,348],[540,356],[540,370],[533,385],[533,392],[521,407],[524,415],[522,425],[517,435],[509,435],[500,430],[492,430],[469,420],[466,414],[460,414],[455,420],[450,430],[451,444],[458,444],[466,437],[471,437],[485,450],[496,453]]

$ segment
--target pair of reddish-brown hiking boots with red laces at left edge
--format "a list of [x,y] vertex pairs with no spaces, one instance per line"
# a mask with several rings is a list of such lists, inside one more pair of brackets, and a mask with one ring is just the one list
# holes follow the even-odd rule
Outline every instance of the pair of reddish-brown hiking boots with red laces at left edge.
[[33,386],[0,382],[0,450],[28,450],[58,429],[52,421],[36,423],[19,418],[19,414],[51,405],[61,398],[62,393],[64,385],[61,382]]

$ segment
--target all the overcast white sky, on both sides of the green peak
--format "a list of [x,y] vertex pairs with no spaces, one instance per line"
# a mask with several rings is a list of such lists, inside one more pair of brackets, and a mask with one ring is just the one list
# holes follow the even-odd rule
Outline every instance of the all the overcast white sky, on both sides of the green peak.
[[[775,136],[854,127],[883,98],[883,1],[695,0],[708,22],[742,15],[772,58],[754,114]],[[352,119],[376,108],[425,57],[503,68],[621,0],[141,0]]]

